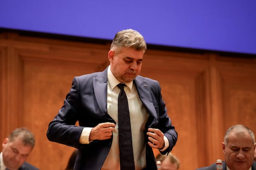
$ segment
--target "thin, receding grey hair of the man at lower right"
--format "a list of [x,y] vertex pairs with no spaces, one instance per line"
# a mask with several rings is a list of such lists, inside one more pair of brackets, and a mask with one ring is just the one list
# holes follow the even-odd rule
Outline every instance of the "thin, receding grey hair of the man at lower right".
[[250,136],[252,137],[252,140],[253,140],[253,144],[255,143],[255,136],[254,136],[254,133],[252,130],[250,130],[249,127],[247,126],[244,126],[244,125],[233,125],[231,126],[227,131],[226,131],[226,134],[224,136],[224,143],[227,145],[228,143],[228,137],[230,135],[230,133],[235,130],[236,132],[244,132],[244,131],[247,131]]

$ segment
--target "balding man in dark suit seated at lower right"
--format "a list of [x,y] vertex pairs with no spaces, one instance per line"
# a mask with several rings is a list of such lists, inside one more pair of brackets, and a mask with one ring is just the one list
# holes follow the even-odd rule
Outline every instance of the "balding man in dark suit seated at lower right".
[[[230,127],[222,142],[225,161],[223,170],[256,170],[254,159],[255,136],[248,127],[234,125]],[[197,170],[216,170],[216,163]]]

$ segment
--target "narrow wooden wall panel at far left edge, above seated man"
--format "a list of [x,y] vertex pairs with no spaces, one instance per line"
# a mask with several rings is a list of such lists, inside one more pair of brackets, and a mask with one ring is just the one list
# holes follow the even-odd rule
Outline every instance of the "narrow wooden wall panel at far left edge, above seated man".
[[[22,116],[22,104],[20,103],[20,59],[13,47],[0,45],[1,49],[1,133],[2,139],[15,127],[19,127]],[[2,63],[3,62],[3,63]]]

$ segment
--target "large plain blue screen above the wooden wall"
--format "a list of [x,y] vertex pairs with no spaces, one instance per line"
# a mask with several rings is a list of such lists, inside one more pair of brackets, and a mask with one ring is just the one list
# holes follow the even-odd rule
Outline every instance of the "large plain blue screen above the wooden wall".
[[0,0],[0,28],[256,54],[256,0]]

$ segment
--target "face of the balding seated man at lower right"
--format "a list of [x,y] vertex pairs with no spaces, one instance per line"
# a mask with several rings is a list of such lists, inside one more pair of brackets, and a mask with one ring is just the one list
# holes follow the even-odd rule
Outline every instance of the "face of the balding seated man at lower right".
[[222,143],[222,148],[230,170],[248,170],[252,166],[255,144],[249,133],[231,132],[227,146]]

